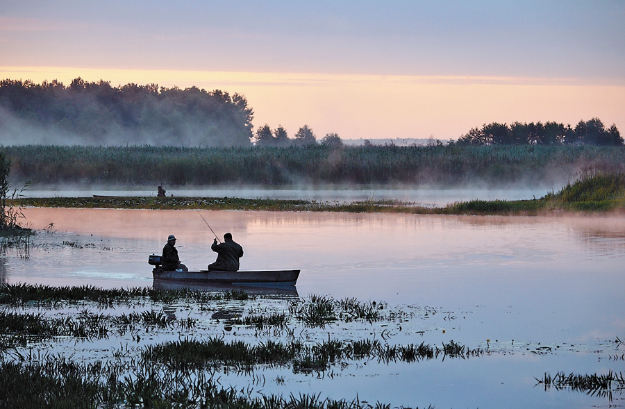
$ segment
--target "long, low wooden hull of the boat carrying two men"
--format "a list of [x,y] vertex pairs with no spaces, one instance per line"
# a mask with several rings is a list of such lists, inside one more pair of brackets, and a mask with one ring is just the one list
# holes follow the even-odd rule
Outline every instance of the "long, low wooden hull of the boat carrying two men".
[[155,268],[152,270],[152,275],[154,281],[172,281],[176,283],[290,287],[297,283],[299,270],[258,270],[240,272],[201,270],[199,272],[176,272]]

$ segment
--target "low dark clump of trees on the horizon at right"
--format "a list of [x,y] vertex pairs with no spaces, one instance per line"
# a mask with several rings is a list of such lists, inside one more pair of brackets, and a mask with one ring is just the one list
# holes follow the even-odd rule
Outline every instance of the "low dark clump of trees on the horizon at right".
[[555,145],[555,144],[592,144],[599,146],[622,146],[624,141],[615,124],[610,128],[599,118],[581,120],[572,128],[570,124],[557,122],[515,122],[511,125],[484,124],[481,128],[472,128],[458,138],[458,144],[464,145]]

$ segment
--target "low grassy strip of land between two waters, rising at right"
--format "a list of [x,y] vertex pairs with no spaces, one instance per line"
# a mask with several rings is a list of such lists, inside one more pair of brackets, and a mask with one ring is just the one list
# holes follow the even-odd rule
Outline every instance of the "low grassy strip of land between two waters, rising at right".
[[259,210],[379,212],[417,215],[538,215],[554,212],[625,212],[625,172],[587,174],[540,199],[472,200],[443,207],[398,200],[353,202],[229,197],[42,197],[13,199],[14,206],[149,210]]

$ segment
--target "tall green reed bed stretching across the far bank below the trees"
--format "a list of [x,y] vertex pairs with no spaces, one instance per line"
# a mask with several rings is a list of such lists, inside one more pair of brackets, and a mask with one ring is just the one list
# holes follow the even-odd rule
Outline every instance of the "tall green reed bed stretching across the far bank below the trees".
[[428,147],[13,146],[15,183],[81,185],[562,185],[625,172],[625,147],[458,144]]

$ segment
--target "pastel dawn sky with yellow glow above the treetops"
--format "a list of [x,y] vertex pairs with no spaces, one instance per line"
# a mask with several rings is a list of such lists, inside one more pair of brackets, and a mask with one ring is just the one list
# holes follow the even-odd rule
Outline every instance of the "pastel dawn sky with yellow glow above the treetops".
[[291,137],[623,134],[624,22],[625,0],[0,0],[0,78],[238,92]]

